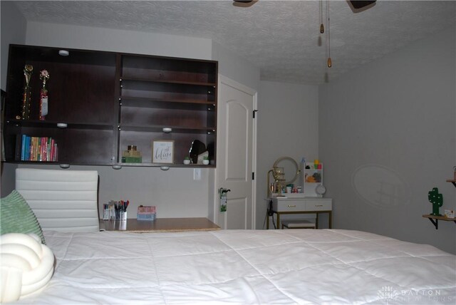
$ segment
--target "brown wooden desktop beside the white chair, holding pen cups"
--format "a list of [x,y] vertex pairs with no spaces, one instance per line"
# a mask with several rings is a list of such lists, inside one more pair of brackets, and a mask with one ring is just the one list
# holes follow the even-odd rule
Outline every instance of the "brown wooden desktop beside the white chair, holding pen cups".
[[135,218],[120,220],[100,219],[100,230],[128,232],[184,232],[212,231],[220,229],[217,224],[204,217],[193,218],[157,218],[154,221],[138,220]]

